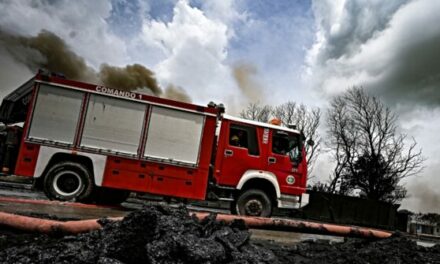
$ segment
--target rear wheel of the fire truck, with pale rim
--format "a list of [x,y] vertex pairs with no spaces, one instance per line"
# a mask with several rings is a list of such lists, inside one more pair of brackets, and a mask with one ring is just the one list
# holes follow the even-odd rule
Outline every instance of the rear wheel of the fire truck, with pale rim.
[[51,200],[87,201],[94,188],[93,177],[86,166],[60,162],[47,172],[43,190]]

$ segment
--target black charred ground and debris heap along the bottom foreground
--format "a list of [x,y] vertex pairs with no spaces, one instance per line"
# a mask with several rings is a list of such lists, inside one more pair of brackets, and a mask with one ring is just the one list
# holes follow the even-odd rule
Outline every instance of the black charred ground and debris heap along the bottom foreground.
[[250,241],[242,222],[191,218],[186,208],[146,206],[80,235],[0,230],[0,263],[440,263],[440,245],[403,236],[280,245]]

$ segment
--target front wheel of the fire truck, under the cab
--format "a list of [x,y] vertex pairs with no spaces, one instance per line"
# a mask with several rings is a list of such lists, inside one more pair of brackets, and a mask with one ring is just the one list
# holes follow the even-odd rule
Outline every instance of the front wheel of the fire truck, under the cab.
[[267,194],[258,189],[249,189],[240,194],[235,203],[238,215],[269,217],[272,214],[272,202]]

